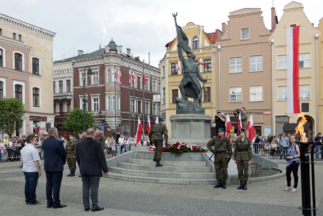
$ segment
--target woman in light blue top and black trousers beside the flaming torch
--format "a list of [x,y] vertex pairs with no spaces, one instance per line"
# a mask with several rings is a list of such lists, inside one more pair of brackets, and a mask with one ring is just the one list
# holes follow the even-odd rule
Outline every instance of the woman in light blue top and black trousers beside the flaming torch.
[[[297,190],[297,183],[298,183],[298,167],[299,163],[296,161],[299,161],[300,157],[300,151],[299,151],[299,146],[298,144],[295,144],[296,141],[296,136],[292,135],[290,137],[290,142],[291,144],[288,146],[287,150],[287,155],[286,155],[286,179],[287,179],[287,187],[284,189],[284,191],[291,191],[291,192],[296,192]],[[294,188],[291,188],[291,173],[293,172],[294,176]]]

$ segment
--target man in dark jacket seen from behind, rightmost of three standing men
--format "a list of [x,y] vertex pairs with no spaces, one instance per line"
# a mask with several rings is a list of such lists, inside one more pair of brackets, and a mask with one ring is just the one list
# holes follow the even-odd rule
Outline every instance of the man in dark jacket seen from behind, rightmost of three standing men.
[[104,207],[98,206],[97,196],[100,177],[107,175],[107,165],[102,149],[102,144],[94,140],[94,129],[86,131],[85,140],[76,145],[76,161],[80,167],[80,174],[83,182],[83,205],[84,210],[90,210],[90,190],[91,190],[91,211],[100,211]]

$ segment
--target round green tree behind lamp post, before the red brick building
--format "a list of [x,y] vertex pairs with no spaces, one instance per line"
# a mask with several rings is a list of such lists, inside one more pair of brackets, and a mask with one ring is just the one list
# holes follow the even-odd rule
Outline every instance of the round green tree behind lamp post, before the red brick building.
[[[69,116],[65,119],[63,126],[69,131],[73,131],[74,133],[81,134],[83,129],[83,119],[84,112],[82,109],[76,108],[69,112]],[[93,126],[94,118],[92,113],[86,112],[86,129]]]

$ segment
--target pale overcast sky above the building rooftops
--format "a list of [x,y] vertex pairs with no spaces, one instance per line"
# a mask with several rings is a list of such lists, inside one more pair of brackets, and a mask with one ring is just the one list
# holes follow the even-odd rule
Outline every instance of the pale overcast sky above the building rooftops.
[[[178,12],[177,23],[188,22],[204,26],[211,33],[221,30],[232,11],[261,8],[265,26],[271,28],[272,0],[230,1],[174,0],[0,0],[0,13],[56,33],[53,40],[53,61],[77,55],[77,50],[90,53],[103,48],[111,38],[123,52],[131,49],[158,67],[166,52],[165,45],[176,36],[172,13]],[[276,0],[278,19],[290,0]],[[316,27],[323,17],[323,1],[307,0],[304,12]]]

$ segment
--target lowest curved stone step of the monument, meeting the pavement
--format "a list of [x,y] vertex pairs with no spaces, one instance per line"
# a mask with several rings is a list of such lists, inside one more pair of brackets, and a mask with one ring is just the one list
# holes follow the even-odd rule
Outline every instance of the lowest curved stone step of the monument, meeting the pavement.
[[107,178],[142,183],[157,183],[157,184],[176,184],[176,185],[215,185],[216,179],[179,179],[179,178],[155,178],[155,177],[141,177],[124,174],[117,174],[115,172],[108,172]]

